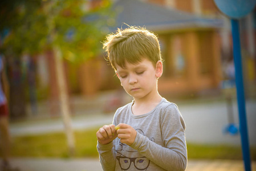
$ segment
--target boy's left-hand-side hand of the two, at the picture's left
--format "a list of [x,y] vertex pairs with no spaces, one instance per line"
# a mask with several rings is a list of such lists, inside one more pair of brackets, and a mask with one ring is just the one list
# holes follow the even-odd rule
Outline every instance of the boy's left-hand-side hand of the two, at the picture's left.
[[115,140],[117,137],[115,125],[104,125],[97,131],[96,137],[99,143],[103,145]]

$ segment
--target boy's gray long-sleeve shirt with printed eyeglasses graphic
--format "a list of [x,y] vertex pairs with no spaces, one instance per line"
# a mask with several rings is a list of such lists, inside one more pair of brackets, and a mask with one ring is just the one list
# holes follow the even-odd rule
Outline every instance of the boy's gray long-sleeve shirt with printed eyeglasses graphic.
[[185,170],[185,122],[177,105],[162,98],[149,113],[133,115],[132,104],[117,109],[113,124],[131,125],[137,135],[131,146],[116,138],[97,143],[103,170]]

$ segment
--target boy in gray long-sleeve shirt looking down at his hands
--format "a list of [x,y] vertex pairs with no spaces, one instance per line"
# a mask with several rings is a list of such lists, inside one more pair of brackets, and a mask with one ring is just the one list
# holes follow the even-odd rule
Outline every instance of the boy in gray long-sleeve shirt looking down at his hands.
[[119,29],[107,36],[103,48],[134,99],[117,109],[113,124],[96,133],[103,170],[185,170],[184,120],[176,104],[157,91],[162,75],[157,36],[140,27]]

